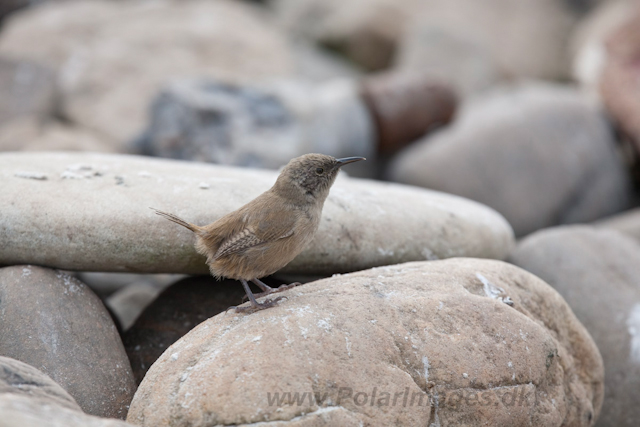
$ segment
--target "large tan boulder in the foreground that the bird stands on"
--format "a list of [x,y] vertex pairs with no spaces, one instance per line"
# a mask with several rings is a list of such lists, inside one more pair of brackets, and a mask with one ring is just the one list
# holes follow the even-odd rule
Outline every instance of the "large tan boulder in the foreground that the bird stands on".
[[169,347],[127,420],[589,426],[600,412],[591,337],[557,292],[512,265],[407,263],[285,295],[251,315],[215,316]]

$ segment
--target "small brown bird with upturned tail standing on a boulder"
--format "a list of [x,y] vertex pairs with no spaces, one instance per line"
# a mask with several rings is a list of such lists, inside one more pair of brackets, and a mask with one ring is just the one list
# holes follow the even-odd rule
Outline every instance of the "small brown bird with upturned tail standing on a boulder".
[[[231,307],[236,312],[255,311],[275,305],[283,297],[263,303],[255,297],[281,292],[296,284],[277,289],[259,278],[280,270],[311,242],[320,224],[320,215],[329,189],[341,166],[365,160],[364,157],[336,159],[323,154],[305,154],[292,159],[269,190],[240,209],[203,227],[177,216],[158,211],[158,215],[188,228],[196,234],[196,250],[207,257],[216,278],[239,280],[250,307]],[[247,281],[262,292],[254,294]]]

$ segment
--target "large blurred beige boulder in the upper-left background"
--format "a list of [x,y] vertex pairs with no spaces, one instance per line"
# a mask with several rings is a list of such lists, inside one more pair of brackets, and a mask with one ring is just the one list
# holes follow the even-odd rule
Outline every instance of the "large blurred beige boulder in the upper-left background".
[[265,18],[230,0],[53,2],[7,21],[0,54],[55,67],[64,117],[124,144],[172,78],[291,75],[287,40]]

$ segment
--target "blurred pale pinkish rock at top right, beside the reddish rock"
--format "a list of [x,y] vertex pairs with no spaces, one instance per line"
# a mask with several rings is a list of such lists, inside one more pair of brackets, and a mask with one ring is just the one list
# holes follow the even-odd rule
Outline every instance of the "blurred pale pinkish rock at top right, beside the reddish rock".
[[633,13],[636,0],[607,0],[600,2],[580,22],[571,36],[573,78],[591,96],[598,97],[598,85],[607,52],[605,40]]

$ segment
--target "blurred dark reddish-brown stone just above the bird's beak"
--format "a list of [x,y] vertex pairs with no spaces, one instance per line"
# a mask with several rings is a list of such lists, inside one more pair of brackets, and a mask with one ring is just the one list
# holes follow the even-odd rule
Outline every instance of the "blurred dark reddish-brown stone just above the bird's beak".
[[361,96],[374,118],[378,152],[390,155],[451,121],[453,89],[429,76],[389,72],[362,82]]

